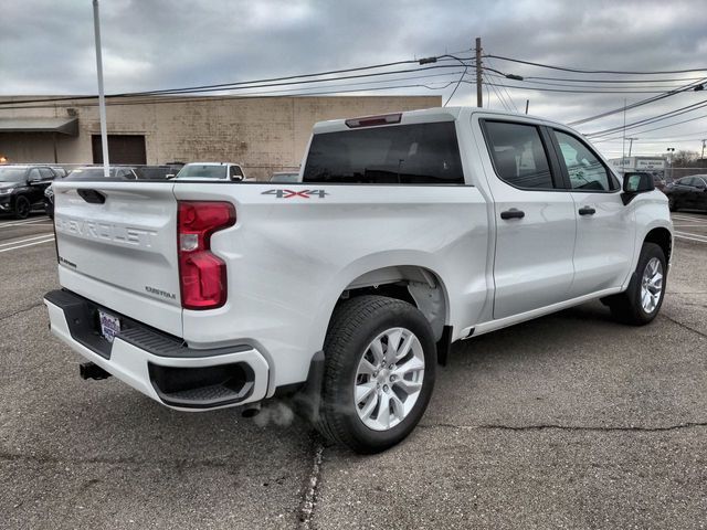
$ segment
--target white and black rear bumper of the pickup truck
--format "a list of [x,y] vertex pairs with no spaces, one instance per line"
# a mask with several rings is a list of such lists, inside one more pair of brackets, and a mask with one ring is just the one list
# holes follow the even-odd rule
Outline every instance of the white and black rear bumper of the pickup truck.
[[97,326],[96,304],[67,290],[45,295],[52,333],[74,351],[172,409],[210,410],[257,402],[267,392],[268,365],[251,346],[193,350],[179,339],[120,318],[113,342]]

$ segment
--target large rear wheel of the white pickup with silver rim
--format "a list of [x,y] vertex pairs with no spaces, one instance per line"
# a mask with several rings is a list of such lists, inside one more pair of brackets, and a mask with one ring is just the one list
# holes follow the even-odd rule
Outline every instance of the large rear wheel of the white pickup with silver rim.
[[324,344],[317,430],[357,453],[384,451],[408,436],[424,414],[436,367],[426,318],[382,296],[344,301]]

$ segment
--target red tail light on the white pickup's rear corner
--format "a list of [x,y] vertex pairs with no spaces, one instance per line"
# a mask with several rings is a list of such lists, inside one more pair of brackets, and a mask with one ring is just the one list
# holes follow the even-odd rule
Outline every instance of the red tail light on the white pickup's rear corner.
[[179,201],[179,284],[184,309],[215,309],[225,304],[225,263],[211,252],[211,235],[235,224],[230,202]]

